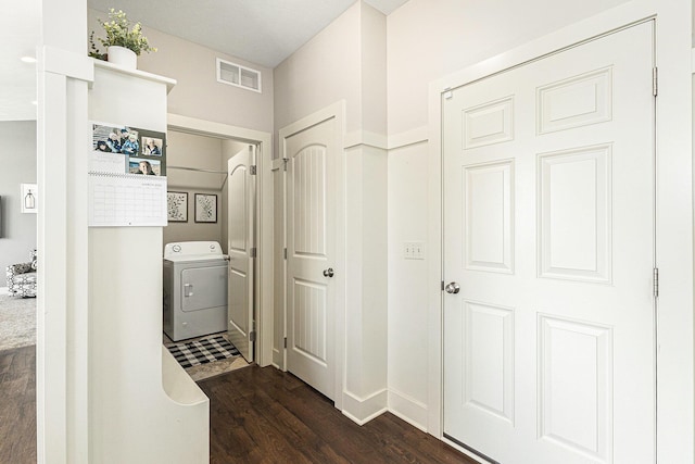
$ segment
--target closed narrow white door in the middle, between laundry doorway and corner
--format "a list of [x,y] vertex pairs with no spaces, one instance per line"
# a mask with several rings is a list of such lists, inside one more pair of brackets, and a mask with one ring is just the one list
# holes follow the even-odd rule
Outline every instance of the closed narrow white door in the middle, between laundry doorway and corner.
[[283,140],[287,170],[287,368],[333,399],[337,154],[329,118]]

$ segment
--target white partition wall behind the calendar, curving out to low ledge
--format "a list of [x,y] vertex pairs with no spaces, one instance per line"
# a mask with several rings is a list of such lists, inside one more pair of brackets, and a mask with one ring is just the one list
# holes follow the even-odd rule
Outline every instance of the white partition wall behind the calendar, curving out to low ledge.
[[[98,63],[89,118],[166,131],[173,84]],[[162,347],[162,227],[88,237],[90,462],[207,462],[208,400]]]

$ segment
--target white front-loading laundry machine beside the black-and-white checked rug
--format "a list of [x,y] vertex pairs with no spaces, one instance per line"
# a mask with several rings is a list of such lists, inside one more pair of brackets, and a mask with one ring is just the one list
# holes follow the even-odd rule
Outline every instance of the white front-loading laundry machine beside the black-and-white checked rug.
[[227,330],[227,260],[216,241],[164,247],[164,333],[172,340]]

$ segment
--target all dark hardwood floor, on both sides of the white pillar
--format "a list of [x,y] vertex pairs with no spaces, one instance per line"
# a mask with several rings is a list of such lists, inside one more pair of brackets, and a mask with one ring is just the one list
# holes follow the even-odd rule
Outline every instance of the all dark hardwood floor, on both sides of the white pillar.
[[[36,347],[0,351],[0,463],[36,463]],[[291,374],[244,367],[199,383],[211,460],[223,463],[475,463],[392,414],[359,427]]]

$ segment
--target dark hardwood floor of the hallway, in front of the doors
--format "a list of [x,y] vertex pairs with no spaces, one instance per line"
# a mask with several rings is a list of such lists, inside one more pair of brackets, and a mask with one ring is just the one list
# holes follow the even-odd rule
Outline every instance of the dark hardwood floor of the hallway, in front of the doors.
[[211,403],[211,463],[475,463],[387,413],[358,426],[274,367],[199,383]]

